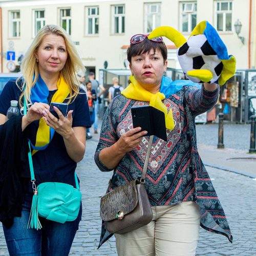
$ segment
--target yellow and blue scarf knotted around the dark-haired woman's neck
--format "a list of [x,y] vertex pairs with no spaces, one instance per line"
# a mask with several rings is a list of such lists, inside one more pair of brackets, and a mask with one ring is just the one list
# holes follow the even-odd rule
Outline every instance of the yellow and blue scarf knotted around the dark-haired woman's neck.
[[[145,90],[134,76],[129,77],[131,83],[127,86],[121,94],[126,98],[142,100],[150,102],[150,106],[162,111],[165,116],[165,126],[169,130],[173,130],[175,127],[173,111],[172,109],[167,111],[166,106],[162,102],[165,98],[178,92],[183,86],[196,86],[199,87],[198,83],[191,82],[190,80],[176,80],[172,81],[169,77],[163,76],[161,81],[160,92],[153,94]],[[200,86],[201,87],[201,86]]]

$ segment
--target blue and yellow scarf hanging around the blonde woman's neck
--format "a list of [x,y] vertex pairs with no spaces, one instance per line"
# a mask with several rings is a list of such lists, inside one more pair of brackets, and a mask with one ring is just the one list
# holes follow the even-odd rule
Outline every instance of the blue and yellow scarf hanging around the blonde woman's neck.
[[[53,95],[51,102],[63,102],[70,94],[69,86],[61,75],[59,76],[59,79],[57,81],[57,88],[58,90]],[[48,96],[49,96],[48,87],[45,81],[41,78],[39,74],[35,85],[31,89],[30,99],[33,104],[35,102],[42,102],[42,103],[48,104],[48,100],[47,100]],[[33,145],[30,141],[31,146],[33,148],[32,155],[35,154],[38,150],[45,150],[45,148],[51,142],[54,133],[55,133],[54,129],[47,125],[44,118],[41,118],[39,120],[39,126],[36,133],[35,145]]]

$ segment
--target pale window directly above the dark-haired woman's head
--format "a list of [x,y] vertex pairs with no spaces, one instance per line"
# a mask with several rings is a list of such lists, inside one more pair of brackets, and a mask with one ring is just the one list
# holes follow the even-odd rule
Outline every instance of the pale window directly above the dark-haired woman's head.
[[144,5],[145,11],[145,31],[150,33],[161,24],[161,4],[150,3]]

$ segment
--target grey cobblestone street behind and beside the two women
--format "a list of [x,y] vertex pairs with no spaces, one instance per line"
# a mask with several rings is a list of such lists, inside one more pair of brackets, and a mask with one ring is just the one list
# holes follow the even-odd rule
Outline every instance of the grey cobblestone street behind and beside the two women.
[[[203,141],[203,132],[212,132],[213,126],[208,126],[208,124],[200,126],[198,129],[200,143],[207,144]],[[244,128],[246,127],[243,126]],[[229,134],[229,131],[226,131],[227,133]],[[83,214],[70,255],[117,255],[114,237],[97,250],[101,230],[99,197],[104,195],[108,180],[112,175],[112,172],[100,172],[94,163],[98,137],[99,135],[94,135],[93,139],[87,141],[86,155],[77,167],[83,195]],[[224,236],[200,228],[196,255],[256,255],[256,180],[217,168],[207,166],[206,168],[225,210],[233,234],[233,243],[230,244]],[[8,255],[2,227],[0,229],[0,255]]]

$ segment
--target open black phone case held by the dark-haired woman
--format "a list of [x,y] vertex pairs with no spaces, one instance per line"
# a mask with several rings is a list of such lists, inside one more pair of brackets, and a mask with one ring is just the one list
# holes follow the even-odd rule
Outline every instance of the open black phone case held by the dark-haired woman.
[[141,127],[147,136],[155,135],[167,141],[164,113],[153,106],[135,106],[131,109],[133,127]]

